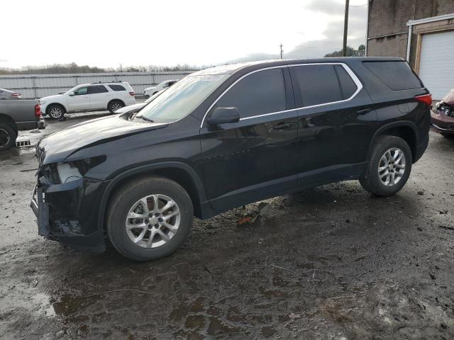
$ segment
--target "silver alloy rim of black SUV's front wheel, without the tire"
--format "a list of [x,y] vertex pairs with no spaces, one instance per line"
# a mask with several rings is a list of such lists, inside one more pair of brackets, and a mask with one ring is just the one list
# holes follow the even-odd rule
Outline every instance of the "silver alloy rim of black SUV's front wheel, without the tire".
[[126,216],[129,239],[143,248],[157,248],[178,232],[181,214],[175,200],[154,194],[140,198]]

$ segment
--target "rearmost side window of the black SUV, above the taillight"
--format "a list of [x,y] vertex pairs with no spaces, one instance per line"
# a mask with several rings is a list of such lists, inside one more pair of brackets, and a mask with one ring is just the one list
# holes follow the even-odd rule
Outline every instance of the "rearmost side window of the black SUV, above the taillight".
[[362,64],[394,91],[423,87],[406,62],[363,62]]

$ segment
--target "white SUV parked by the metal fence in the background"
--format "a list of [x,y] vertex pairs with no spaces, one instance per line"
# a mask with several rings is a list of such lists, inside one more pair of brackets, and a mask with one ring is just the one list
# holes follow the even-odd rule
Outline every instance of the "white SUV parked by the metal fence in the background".
[[62,94],[40,98],[40,105],[43,113],[59,119],[74,111],[107,109],[114,113],[118,108],[134,104],[134,96],[133,88],[126,82],[99,82],[77,85]]

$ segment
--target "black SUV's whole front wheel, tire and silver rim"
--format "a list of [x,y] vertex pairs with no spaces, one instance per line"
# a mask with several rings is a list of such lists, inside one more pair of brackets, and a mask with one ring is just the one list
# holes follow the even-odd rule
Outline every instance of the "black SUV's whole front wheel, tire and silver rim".
[[[155,198],[159,198],[158,208],[170,204],[170,200],[176,205],[162,211],[158,218]],[[143,199],[147,199],[148,212],[144,211],[140,203]],[[138,217],[138,214],[139,218],[131,218],[131,215]],[[175,216],[168,217],[170,214]],[[109,204],[106,229],[111,243],[123,256],[133,261],[150,261],[162,259],[179,249],[191,232],[193,216],[191,198],[182,186],[170,179],[150,177],[130,181],[116,191]],[[161,223],[164,218],[168,219],[167,225],[177,227],[175,232]],[[130,227],[128,229],[127,223]],[[135,225],[138,227],[133,227]],[[157,229],[161,232],[157,232]],[[167,239],[162,237],[163,233],[167,235]],[[136,242],[133,241],[134,238]]]

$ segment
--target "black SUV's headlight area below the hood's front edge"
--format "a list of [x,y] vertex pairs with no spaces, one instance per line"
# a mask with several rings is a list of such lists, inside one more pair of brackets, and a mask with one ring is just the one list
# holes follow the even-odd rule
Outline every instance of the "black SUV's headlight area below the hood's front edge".
[[106,156],[96,156],[72,162],[46,164],[40,169],[40,174],[52,184],[69,183],[83,179],[94,166],[103,163]]

